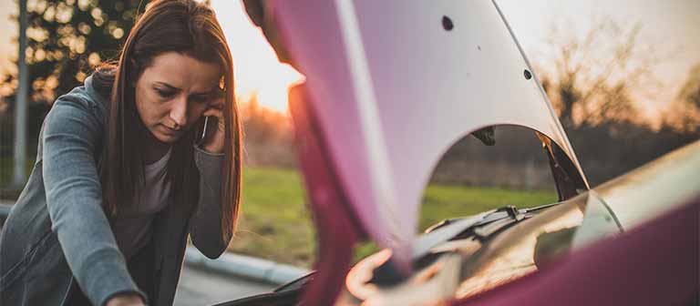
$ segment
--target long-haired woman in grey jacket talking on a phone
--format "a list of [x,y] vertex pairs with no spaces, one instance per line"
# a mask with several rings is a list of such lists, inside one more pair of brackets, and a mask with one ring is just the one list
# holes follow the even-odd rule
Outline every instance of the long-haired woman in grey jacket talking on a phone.
[[210,258],[232,238],[241,141],[211,8],[151,3],[118,65],[46,116],[0,239],[0,304],[172,304],[188,237]]

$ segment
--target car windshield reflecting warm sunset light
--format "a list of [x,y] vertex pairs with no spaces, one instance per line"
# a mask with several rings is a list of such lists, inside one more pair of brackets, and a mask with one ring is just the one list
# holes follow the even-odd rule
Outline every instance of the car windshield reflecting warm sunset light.
[[465,298],[517,279],[571,250],[618,232],[613,216],[593,194],[545,209],[467,256],[456,297]]

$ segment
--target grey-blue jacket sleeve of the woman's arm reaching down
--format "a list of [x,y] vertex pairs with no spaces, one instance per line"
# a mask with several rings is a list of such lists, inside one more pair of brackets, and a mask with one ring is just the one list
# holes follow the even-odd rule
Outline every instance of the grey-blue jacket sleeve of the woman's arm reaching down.
[[94,305],[118,293],[136,293],[126,260],[102,209],[96,148],[102,123],[94,105],[79,97],[59,97],[46,116],[43,173],[51,230],[78,285]]

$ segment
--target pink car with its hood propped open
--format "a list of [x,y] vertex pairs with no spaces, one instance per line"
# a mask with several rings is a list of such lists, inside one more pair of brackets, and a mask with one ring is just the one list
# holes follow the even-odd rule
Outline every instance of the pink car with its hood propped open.
[[[319,233],[315,272],[221,305],[691,305],[700,143],[589,189],[492,1],[245,0],[305,76],[290,109]],[[559,201],[443,221],[418,206],[459,138],[527,128]],[[350,267],[353,247],[385,248]]]

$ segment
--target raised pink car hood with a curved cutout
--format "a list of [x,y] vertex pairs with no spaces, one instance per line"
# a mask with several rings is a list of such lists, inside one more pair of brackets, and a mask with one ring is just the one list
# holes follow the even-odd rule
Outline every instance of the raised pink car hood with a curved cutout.
[[[490,1],[244,1],[307,104],[365,232],[397,254],[415,238],[439,158],[480,128],[546,136],[588,185],[551,104]],[[409,256],[400,257],[407,263]]]

